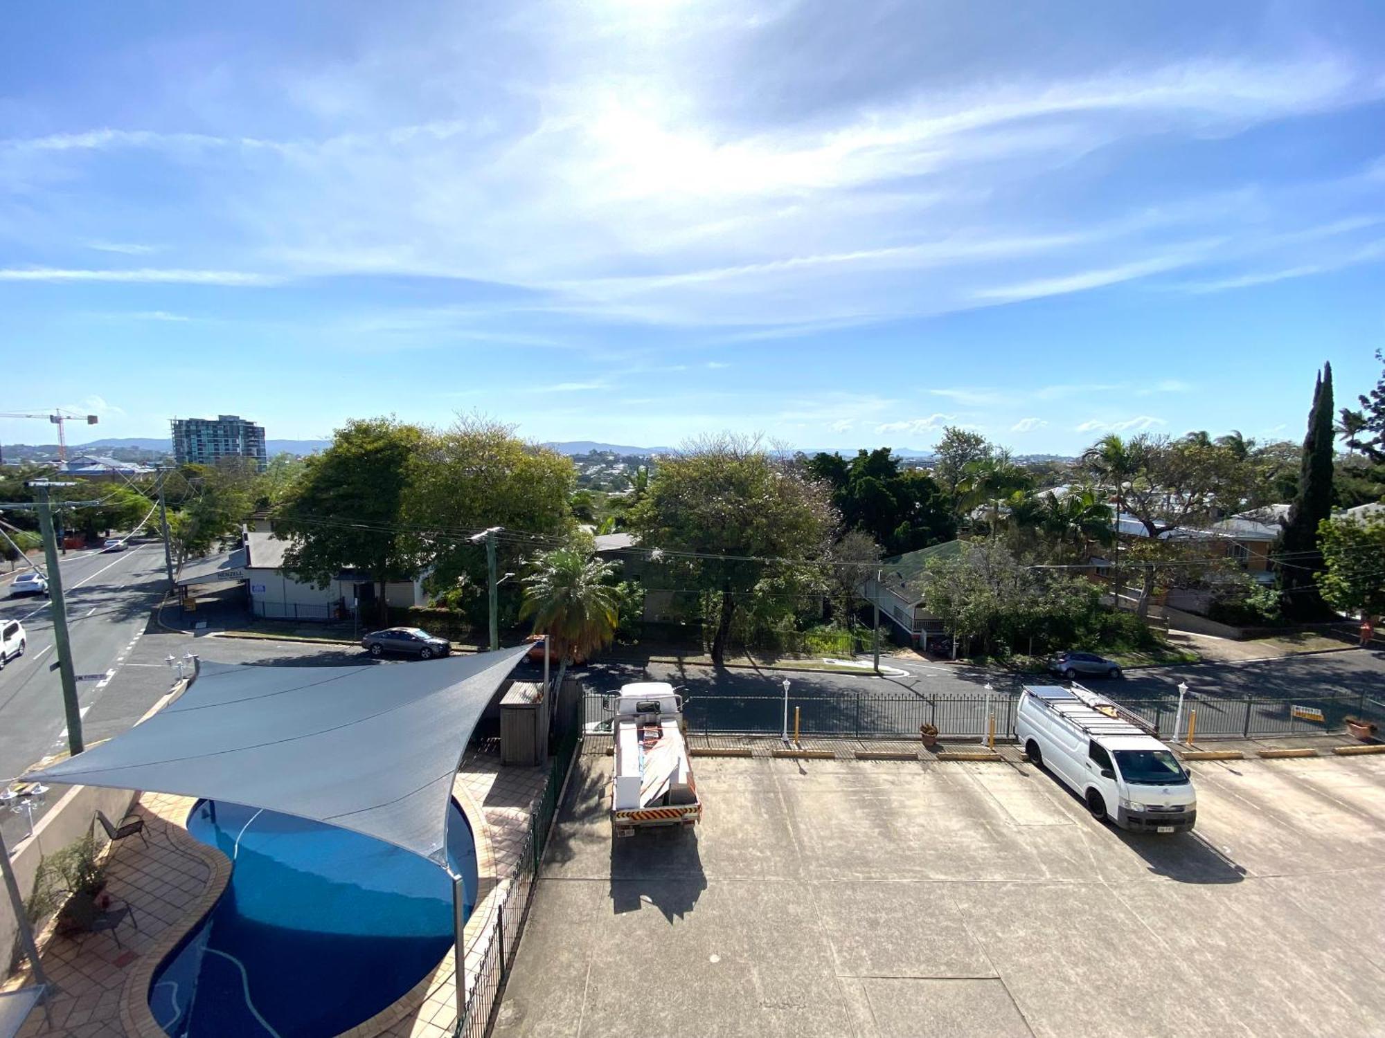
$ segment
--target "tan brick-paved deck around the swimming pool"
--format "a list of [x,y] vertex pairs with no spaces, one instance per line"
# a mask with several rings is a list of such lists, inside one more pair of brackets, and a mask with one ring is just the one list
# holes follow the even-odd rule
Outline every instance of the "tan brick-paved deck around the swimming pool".
[[[474,981],[499,904],[529,833],[529,814],[547,782],[547,768],[501,767],[497,754],[468,752],[453,792],[476,836],[478,904],[467,922],[467,972]],[[109,933],[69,937],[48,927],[40,958],[58,988],[48,1010],[36,1008],[19,1038],[166,1038],[150,1013],[150,981],[163,958],[216,902],[230,879],[230,862],[188,835],[191,797],[144,793],[133,808],[145,822],[138,836],[109,848],[107,889],[127,904],[134,922],[122,923],[119,945]],[[53,848],[55,850],[55,848]],[[343,1038],[450,1038],[457,1021],[452,951],[413,991]],[[0,990],[30,981],[28,965]],[[305,991],[303,998],[331,998]]]

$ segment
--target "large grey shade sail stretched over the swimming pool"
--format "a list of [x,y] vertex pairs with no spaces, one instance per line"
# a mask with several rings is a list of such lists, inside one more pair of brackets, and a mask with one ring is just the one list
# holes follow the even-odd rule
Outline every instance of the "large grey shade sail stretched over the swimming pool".
[[528,650],[359,667],[204,663],[150,720],[25,778],[263,807],[446,868],[461,754]]

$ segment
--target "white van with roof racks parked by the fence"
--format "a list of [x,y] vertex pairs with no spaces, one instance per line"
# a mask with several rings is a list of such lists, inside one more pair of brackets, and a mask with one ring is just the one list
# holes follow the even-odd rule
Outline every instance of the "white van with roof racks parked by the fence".
[[1015,735],[1029,760],[1083,799],[1094,818],[1136,832],[1187,832],[1197,822],[1192,779],[1137,714],[1073,684],[1026,685]]

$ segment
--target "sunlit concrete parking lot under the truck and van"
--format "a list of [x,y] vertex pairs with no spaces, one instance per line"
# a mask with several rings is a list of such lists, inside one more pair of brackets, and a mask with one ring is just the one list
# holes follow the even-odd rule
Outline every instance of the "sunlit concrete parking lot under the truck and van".
[[1385,1034],[1385,757],[1195,764],[1198,829],[1029,765],[697,763],[615,841],[579,758],[497,1035]]

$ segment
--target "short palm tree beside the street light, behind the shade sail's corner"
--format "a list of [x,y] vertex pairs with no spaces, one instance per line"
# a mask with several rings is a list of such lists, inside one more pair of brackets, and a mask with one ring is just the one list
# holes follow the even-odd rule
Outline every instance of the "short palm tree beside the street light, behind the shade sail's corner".
[[607,583],[614,573],[614,563],[573,548],[544,552],[524,579],[519,617],[533,617],[560,659],[580,663],[615,638],[619,592]]

